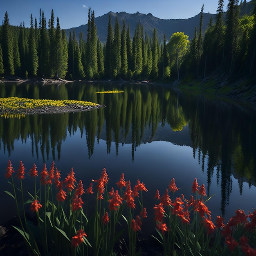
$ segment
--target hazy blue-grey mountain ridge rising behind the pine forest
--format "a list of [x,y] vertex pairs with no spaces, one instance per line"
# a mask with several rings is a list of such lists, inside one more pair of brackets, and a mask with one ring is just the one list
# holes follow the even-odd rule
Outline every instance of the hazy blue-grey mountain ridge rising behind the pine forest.
[[[254,1],[244,2],[240,5],[240,14],[243,15],[245,13],[250,13],[253,9]],[[217,8],[217,6],[216,6]],[[170,19],[164,20],[157,17],[154,17],[151,13],[143,14],[143,13],[126,13],[119,12],[113,13],[109,12],[104,14],[103,16],[95,18],[95,24],[97,26],[98,37],[101,42],[106,42],[107,38],[107,30],[108,30],[108,17],[111,16],[112,27],[114,29],[116,17],[119,21],[120,27],[123,25],[123,20],[126,21],[127,25],[130,25],[130,33],[131,38],[133,37],[135,28],[137,23],[143,25],[144,33],[146,32],[150,37],[153,36],[154,28],[157,29],[158,39],[160,42],[163,41],[164,34],[166,35],[166,39],[168,40],[171,35],[175,32],[184,32],[189,36],[189,40],[192,40],[194,36],[195,27],[199,27],[200,21],[200,13],[192,18],[188,19]],[[204,13],[203,14],[203,31],[207,29],[210,18],[212,17],[213,23],[215,22],[215,14]],[[76,34],[76,38],[79,38],[79,33],[83,32],[84,39],[86,40],[87,36],[87,25],[81,25],[79,27],[65,29],[67,38],[69,38],[69,32],[73,34],[73,29]],[[121,29],[120,29],[121,30]]]

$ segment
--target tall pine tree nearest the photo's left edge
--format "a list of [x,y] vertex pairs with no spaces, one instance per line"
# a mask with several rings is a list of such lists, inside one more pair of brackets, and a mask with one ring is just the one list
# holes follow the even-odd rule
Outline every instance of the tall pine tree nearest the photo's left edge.
[[2,23],[2,54],[4,63],[4,73],[6,75],[14,76],[13,63],[13,33],[9,24],[7,11],[4,15],[4,22]]

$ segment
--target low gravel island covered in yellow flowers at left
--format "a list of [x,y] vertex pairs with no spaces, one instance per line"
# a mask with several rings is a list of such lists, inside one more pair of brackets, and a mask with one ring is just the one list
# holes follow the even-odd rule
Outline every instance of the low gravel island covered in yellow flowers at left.
[[0,98],[0,116],[35,115],[89,111],[103,106],[90,101],[26,99],[18,97]]

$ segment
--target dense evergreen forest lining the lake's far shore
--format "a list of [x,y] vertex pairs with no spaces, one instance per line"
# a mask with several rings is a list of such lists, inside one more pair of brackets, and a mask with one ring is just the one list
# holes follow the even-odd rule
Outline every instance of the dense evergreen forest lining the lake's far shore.
[[204,5],[192,40],[183,32],[163,43],[144,32],[139,22],[133,37],[129,24],[109,16],[106,42],[97,37],[94,11],[88,11],[87,38],[76,38],[61,29],[52,10],[46,20],[40,9],[39,22],[31,14],[30,28],[9,24],[8,13],[0,26],[0,76],[61,79],[123,79],[171,81],[180,77],[205,77],[216,71],[230,76],[256,75],[256,1],[249,15],[240,14],[246,0],[218,1],[215,20],[202,30]]

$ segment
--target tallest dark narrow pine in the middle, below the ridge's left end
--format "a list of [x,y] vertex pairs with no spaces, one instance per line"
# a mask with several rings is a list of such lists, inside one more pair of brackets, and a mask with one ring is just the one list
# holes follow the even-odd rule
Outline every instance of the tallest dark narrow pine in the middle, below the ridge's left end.
[[112,46],[113,46],[113,28],[111,25],[111,16],[109,14],[108,18],[108,34],[107,34],[107,42],[106,42],[106,56],[105,56],[105,74],[106,76],[112,78],[113,71],[113,63],[112,63]]

